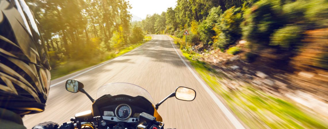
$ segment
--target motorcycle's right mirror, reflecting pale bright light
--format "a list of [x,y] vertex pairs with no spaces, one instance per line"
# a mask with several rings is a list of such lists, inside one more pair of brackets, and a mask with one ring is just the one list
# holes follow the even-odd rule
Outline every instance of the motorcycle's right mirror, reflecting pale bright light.
[[175,98],[184,101],[193,101],[196,98],[196,91],[186,87],[178,87],[175,90]]

